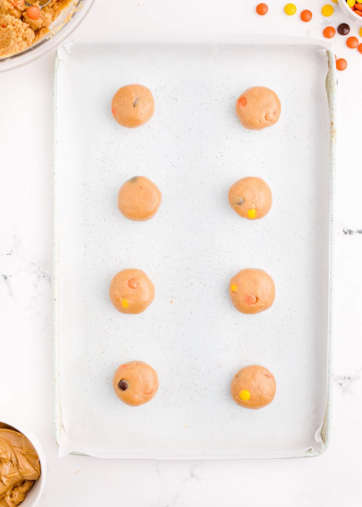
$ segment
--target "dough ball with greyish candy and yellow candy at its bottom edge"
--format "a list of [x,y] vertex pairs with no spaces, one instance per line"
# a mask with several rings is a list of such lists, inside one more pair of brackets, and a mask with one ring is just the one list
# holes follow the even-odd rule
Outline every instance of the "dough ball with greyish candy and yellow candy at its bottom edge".
[[258,220],[269,213],[273,197],[262,178],[247,176],[230,187],[229,204],[244,219]]

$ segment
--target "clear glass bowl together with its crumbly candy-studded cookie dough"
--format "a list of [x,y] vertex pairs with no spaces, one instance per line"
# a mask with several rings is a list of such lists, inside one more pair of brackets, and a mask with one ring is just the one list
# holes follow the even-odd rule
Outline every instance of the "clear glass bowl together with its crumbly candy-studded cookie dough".
[[55,49],[86,17],[94,0],[1,0],[0,72]]

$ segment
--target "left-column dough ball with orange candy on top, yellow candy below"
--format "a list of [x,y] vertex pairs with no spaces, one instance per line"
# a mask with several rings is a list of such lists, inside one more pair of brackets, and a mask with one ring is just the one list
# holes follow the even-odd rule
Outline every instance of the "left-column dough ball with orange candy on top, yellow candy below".
[[142,313],[155,299],[155,285],[140,269],[123,269],[110,285],[113,306],[121,313]]

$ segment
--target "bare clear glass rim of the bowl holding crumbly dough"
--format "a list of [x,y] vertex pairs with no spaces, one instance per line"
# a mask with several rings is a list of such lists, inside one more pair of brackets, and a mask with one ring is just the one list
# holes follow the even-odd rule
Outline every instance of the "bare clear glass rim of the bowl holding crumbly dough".
[[50,25],[50,31],[45,37],[20,53],[3,58],[0,57],[0,72],[21,67],[44,55],[51,49],[57,48],[86,17],[93,2],[94,0],[71,0],[54,23]]

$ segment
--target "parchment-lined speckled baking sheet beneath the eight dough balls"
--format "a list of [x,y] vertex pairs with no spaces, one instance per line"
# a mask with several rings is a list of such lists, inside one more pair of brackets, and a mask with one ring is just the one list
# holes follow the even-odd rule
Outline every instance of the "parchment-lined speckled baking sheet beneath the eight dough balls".
[[[323,449],[330,282],[330,116],[321,46],[85,45],[58,50],[56,91],[56,374],[59,455],[288,457]],[[156,111],[127,130],[110,113],[113,93],[139,82]],[[244,130],[235,99],[274,89],[277,125]],[[117,209],[125,179],[161,189],[154,219]],[[245,175],[269,183],[269,215],[241,220],[227,192]],[[57,247],[57,244],[56,244]],[[118,313],[113,275],[146,271],[156,286],[141,315]],[[238,313],[230,277],[265,269],[273,307]],[[173,303],[171,303],[173,301]],[[57,338],[59,337],[59,340]],[[158,372],[155,399],[139,408],[112,389],[117,366],[144,360]],[[262,364],[276,378],[273,403],[242,410],[235,372]],[[59,391],[57,391],[59,392]],[[56,403],[56,406],[57,403]]]

